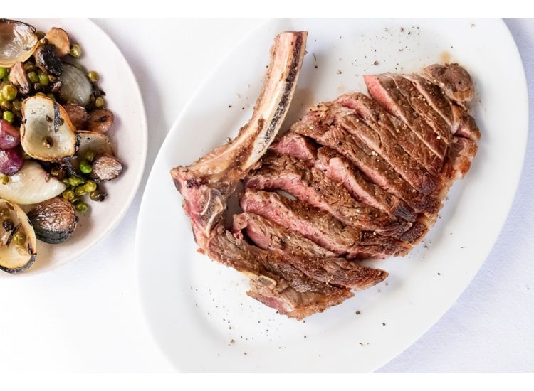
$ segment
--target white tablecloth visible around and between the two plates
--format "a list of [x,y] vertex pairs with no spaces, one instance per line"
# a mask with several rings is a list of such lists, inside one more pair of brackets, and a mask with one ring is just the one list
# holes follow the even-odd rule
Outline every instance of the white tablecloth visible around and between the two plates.
[[[189,96],[261,21],[95,22],[124,53],[145,98],[144,180],[125,219],[89,255],[46,274],[1,280],[0,371],[173,370],[137,299],[133,239],[142,190]],[[506,23],[525,64],[533,129],[534,21]],[[174,53],[174,62],[165,53]],[[511,213],[481,271],[445,316],[380,372],[534,371],[533,151],[530,134]]]

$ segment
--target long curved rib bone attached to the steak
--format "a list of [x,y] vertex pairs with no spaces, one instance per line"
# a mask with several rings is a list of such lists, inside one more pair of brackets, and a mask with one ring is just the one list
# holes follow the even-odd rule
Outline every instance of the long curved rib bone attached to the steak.
[[295,92],[307,35],[300,31],[276,36],[271,63],[252,118],[239,130],[236,139],[194,164],[172,169],[171,176],[184,197],[184,210],[191,218],[194,237],[200,247],[204,247],[211,230],[221,219],[237,183],[278,133]]

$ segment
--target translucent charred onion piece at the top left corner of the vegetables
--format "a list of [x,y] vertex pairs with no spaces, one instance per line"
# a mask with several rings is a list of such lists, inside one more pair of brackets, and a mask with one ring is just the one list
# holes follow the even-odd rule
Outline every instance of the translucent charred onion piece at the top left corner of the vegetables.
[[36,29],[29,24],[0,20],[0,67],[11,68],[28,60],[36,50]]

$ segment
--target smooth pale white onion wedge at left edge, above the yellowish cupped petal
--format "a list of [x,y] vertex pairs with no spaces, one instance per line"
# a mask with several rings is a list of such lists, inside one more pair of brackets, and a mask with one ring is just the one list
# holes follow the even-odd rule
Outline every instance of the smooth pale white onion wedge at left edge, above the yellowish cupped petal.
[[36,161],[26,160],[20,171],[0,182],[0,197],[19,205],[41,203],[65,191],[65,183],[43,170]]

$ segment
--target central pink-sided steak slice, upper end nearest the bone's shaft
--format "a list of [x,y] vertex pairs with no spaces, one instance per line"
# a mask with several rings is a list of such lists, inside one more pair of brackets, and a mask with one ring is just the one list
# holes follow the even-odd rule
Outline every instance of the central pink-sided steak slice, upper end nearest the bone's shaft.
[[415,221],[414,211],[404,201],[369,181],[358,168],[334,149],[328,146],[317,149],[310,139],[295,132],[284,134],[271,149],[319,168],[327,178],[342,183],[353,198],[373,208],[385,210],[390,215]]

